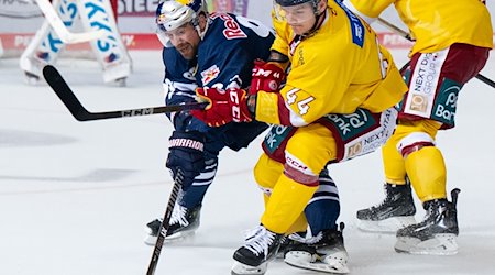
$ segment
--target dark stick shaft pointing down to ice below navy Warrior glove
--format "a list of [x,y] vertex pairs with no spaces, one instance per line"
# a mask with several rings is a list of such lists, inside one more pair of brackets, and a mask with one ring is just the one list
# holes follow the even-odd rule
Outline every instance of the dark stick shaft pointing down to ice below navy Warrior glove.
[[172,211],[174,210],[175,201],[177,200],[178,193],[183,186],[183,172],[180,169],[177,170],[174,179],[174,187],[172,188],[170,197],[168,198],[168,205],[165,210],[165,215],[163,217],[162,224],[160,224],[158,238],[156,239],[155,248],[153,249],[153,255],[147,267],[146,275],[155,274],[156,265],[158,264],[160,254],[162,252],[163,243],[165,242],[165,237],[168,231],[168,223],[170,221]]

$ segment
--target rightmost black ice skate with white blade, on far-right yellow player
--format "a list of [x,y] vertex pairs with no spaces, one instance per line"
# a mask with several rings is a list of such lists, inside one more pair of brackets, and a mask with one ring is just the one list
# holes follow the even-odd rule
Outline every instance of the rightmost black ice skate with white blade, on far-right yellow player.
[[458,194],[451,191],[452,202],[435,199],[424,204],[425,220],[397,231],[395,251],[410,254],[453,255],[458,253]]

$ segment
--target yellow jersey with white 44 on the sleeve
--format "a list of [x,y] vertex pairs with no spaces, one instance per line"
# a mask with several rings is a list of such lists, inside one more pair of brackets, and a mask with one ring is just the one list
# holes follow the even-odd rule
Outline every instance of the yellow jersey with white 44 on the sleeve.
[[371,28],[349,10],[329,1],[326,19],[309,37],[298,40],[285,22],[276,22],[272,50],[292,63],[279,94],[260,91],[256,120],[301,127],[328,113],[358,108],[382,112],[407,90],[392,55]]

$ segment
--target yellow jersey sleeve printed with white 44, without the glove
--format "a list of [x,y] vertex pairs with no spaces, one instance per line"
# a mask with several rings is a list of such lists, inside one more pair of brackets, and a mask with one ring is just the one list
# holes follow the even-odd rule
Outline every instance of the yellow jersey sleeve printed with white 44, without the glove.
[[258,91],[255,108],[251,107],[256,120],[302,127],[334,112],[359,66],[359,55],[351,47],[336,45],[332,48],[309,50],[304,63],[294,61],[279,92]]

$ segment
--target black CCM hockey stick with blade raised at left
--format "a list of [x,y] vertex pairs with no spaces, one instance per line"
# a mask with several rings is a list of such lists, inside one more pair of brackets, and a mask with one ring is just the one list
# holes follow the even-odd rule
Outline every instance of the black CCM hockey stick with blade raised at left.
[[164,112],[177,112],[183,110],[202,109],[208,103],[185,103],[175,106],[158,106],[129,110],[117,110],[117,111],[106,111],[106,112],[90,112],[88,111],[74,95],[70,87],[64,80],[58,70],[52,66],[46,65],[43,68],[43,76],[46,82],[52,87],[52,89],[57,94],[58,98],[64,102],[65,107],[70,111],[70,113],[78,121],[89,121],[89,120],[103,120],[103,119],[114,119],[124,117],[135,117],[135,116],[148,116],[155,113]]

